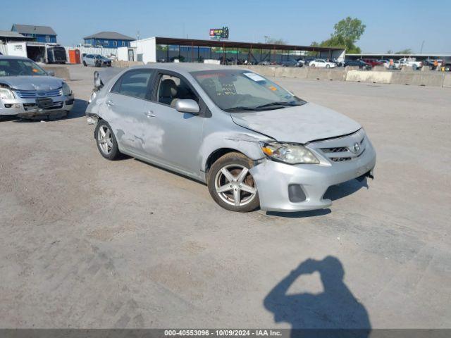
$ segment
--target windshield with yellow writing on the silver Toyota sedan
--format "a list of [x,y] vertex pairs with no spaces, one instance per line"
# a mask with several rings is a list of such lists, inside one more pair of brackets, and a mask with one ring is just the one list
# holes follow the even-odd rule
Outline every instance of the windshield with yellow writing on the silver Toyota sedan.
[[274,82],[246,70],[206,70],[191,75],[223,111],[260,111],[305,104]]

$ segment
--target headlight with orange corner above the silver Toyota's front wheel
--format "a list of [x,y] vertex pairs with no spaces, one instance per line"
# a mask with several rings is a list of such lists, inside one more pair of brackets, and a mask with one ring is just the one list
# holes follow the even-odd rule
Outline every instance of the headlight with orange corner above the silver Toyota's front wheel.
[[288,164],[319,163],[318,158],[309,149],[300,144],[271,142],[262,144],[261,150],[269,158]]

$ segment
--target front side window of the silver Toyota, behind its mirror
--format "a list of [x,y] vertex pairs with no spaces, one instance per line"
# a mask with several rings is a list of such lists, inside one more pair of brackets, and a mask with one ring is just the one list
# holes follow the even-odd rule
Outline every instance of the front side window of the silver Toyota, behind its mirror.
[[161,104],[173,106],[178,99],[192,99],[199,103],[199,98],[185,80],[172,75],[161,75],[156,100]]

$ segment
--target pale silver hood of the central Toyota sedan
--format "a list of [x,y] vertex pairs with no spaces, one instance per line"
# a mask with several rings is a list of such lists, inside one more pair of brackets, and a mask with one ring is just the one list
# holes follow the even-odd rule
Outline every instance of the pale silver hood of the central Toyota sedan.
[[279,142],[305,144],[351,134],[361,128],[359,123],[332,109],[317,104],[304,104],[255,113],[231,113],[233,122]]

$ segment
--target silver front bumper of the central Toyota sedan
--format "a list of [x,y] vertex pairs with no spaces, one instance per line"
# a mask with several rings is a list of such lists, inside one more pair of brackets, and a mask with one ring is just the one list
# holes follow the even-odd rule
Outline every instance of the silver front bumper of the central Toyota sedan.
[[330,186],[354,178],[372,178],[375,165],[376,152],[368,142],[362,156],[352,161],[289,165],[265,158],[249,172],[257,184],[262,210],[309,211],[332,204],[330,199],[323,199]]

